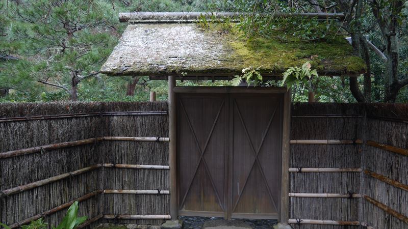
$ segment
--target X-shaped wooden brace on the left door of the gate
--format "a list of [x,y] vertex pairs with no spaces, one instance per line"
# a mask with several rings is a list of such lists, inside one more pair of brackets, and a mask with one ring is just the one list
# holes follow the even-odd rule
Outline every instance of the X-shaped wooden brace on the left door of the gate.
[[195,139],[195,142],[196,142],[196,144],[197,144],[197,148],[198,148],[199,154],[200,154],[200,158],[198,159],[198,162],[197,162],[197,164],[196,164],[196,166],[195,166],[194,174],[193,174],[193,176],[191,177],[191,180],[190,180],[189,186],[188,186],[188,188],[187,188],[187,191],[186,191],[186,193],[185,193],[184,196],[183,196],[183,200],[182,200],[182,202],[181,202],[181,204],[180,204],[180,208],[183,207],[183,204],[184,204],[184,202],[186,201],[187,194],[188,194],[188,192],[190,191],[191,185],[193,184],[193,181],[194,181],[194,177],[195,177],[195,175],[197,174],[198,166],[200,165],[200,163],[201,163],[201,161],[202,161],[203,164],[204,164],[204,167],[206,168],[207,174],[208,174],[208,176],[210,177],[210,181],[211,181],[211,184],[212,184],[212,186],[213,186],[215,195],[217,196],[217,199],[218,199],[218,204],[220,205],[222,211],[225,211],[225,210],[224,210],[224,207],[223,207],[222,204],[221,204],[221,199],[220,199],[220,197],[219,197],[219,195],[218,195],[217,189],[215,188],[215,184],[214,184],[213,178],[211,177],[210,169],[208,168],[206,159],[204,158],[204,153],[205,153],[205,151],[206,151],[206,149],[207,149],[208,142],[210,141],[210,138],[211,138],[211,135],[212,135],[212,133],[213,133],[213,131],[214,131],[214,127],[215,127],[215,125],[216,125],[216,123],[217,123],[218,117],[220,116],[222,107],[224,106],[224,102],[225,102],[225,99],[222,100],[222,103],[221,103],[221,106],[220,106],[220,108],[219,108],[219,110],[218,110],[217,116],[215,117],[213,126],[211,127],[210,134],[209,134],[208,137],[207,137],[206,144],[204,145],[204,148],[201,149],[201,147],[200,147],[200,145],[199,145],[199,143],[198,143],[197,136],[195,135],[193,126],[191,125],[190,119],[189,119],[189,117],[188,117],[188,115],[187,115],[186,108],[184,107],[183,102],[180,100],[180,105],[181,105],[181,107],[182,107],[182,109],[183,109],[183,111],[184,111],[184,114],[185,114],[186,118],[187,118],[188,125],[189,125],[189,127],[190,127],[191,132],[193,133],[193,136],[194,136],[194,139]]

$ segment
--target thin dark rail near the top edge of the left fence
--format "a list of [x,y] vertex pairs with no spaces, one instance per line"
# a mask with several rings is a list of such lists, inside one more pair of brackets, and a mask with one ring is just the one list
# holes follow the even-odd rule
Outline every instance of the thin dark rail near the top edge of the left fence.
[[167,115],[167,111],[128,111],[128,112],[110,111],[110,112],[88,112],[88,113],[65,113],[61,115],[0,118],[0,123],[32,121],[32,120],[48,120],[48,119],[83,118],[83,117],[95,117],[95,116],[149,116],[149,115]]

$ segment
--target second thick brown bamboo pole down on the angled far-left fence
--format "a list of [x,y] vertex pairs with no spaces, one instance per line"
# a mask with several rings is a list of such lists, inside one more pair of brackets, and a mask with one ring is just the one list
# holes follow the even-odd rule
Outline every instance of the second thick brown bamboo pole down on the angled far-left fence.
[[10,189],[2,191],[1,196],[2,197],[3,196],[8,196],[8,195],[19,193],[19,192],[22,192],[22,191],[25,191],[25,190],[30,190],[30,189],[33,189],[33,188],[36,188],[36,187],[40,187],[40,186],[43,186],[43,185],[46,185],[46,184],[49,184],[49,183],[53,183],[53,182],[65,179],[65,178],[70,177],[70,176],[77,176],[77,175],[86,173],[88,171],[92,171],[94,169],[97,169],[97,168],[99,168],[101,166],[102,166],[101,164],[96,164],[96,165],[92,165],[92,166],[89,166],[89,167],[86,167],[86,168],[81,168],[81,169],[78,169],[78,170],[75,170],[75,171],[72,171],[72,172],[69,172],[69,173],[65,173],[65,174],[54,176],[54,177],[50,177],[50,178],[47,178],[47,179],[44,179],[44,180],[41,180],[41,181],[35,181],[35,182],[29,183],[29,184],[20,185],[20,186],[17,186],[17,187],[10,188]]

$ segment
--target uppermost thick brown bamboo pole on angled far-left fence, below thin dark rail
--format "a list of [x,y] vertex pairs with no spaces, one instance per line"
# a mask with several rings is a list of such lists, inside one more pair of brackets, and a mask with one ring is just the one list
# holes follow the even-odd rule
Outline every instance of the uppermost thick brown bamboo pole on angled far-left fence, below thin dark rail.
[[36,152],[40,152],[43,150],[55,150],[55,149],[66,148],[66,147],[92,144],[100,140],[102,140],[102,138],[100,137],[87,138],[87,139],[76,140],[76,141],[59,142],[59,143],[49,144],[45,146],[31,147],[31,148],[26,148],[26,149],[21,149],[21,150],[12,150],[12,151],[0,153],[0,159],[36,153]]

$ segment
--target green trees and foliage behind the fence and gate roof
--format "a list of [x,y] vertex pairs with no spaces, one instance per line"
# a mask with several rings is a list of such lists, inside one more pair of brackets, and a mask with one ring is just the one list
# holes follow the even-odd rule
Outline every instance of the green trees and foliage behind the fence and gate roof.
[[[373,14],[370,0],[336,1],[264,1],[264,0],[8,0],[0,1],[0,101],[146,101],[149,91],[158,100],[167,99],[167,82],[149,81],[148,77],[107,77],[98,73],[101,64],[117,44],[125,28],[119,12],[236,11],[236,12],[342,12],[340,4],[360,3],[361,17],[350,19],[349,27],[336,20],[315,18],[274,18],[249,15],[237,28],[246,39],[253,36],[309,42],[333,36],[350,36],[358,31],[386,53],[387,43],[381,25]],[[390,2],[374,1],[384,9]],[[349,5],[347,5],[349,6]],[[353,5],[352,7],[355,8]],[[353,9],[354,9],[353,8]],[[384,14],[394,15],[381,8]],[[391,9],[391,8],[390,8]],[[344,10],[344,9],[343,9]],[[397,77],[408,78],[408,4],[395,13],[399,39]],[[348,30],[348,28],[350,28]],[[351,29],[353,28],[353,29]],[[290,41],[288,41],[290,42]],[[369,49],[371,74],[367,101],[384,101],[387,91],[387,64]],[[250,67],[250,66],[248,66]],[[253,66],[257,67],[257,66]],[[296,66],[293,66],[296,67]],[[301,67],[301,66],[297,66]],[[366,78],[359,77],[356,87],[366,90]],[[129,87],[135,87],[129,92]],[[185,81],[179,85],[231,85],[231,82]],[[262,82],[279,85],[279,82]],[[321,102],[355,102],[347,77],[313,77],[316,100]],[[351,82],[354,85],[355,82]],[[308,90],[300,85],[293,90],[294,101],[307,101]],[[307,85],[306,85],[307,86]],[[402,87],[396,102],[408,102],[408,89]]]

